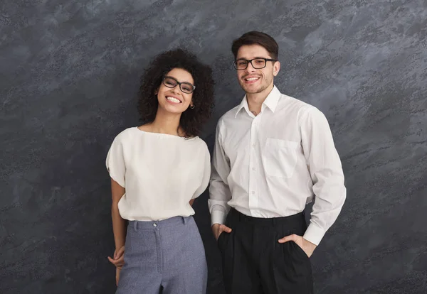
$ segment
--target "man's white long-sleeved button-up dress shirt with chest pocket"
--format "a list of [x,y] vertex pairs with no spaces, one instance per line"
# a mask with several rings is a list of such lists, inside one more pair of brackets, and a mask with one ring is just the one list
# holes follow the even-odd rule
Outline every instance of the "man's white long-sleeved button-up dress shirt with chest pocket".
[[212,224],[223,224],[230,207],[252,217],[285,217],[315,200],[303,237],[318,245],[346,198],[325,115],[277,87],[257,116],[245,96],[219,119],[211,170]]

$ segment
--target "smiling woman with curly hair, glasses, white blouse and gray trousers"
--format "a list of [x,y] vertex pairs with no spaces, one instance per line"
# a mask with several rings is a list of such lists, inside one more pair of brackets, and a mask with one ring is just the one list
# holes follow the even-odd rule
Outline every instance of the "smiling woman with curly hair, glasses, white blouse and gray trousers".
[[118,134],[106,160],[116,293],[206,292],[191,205],[209,183],[209,151],[198,135],[213,106],[211,68],[185,50],[158,55],[142,76],[139,114],[147,124]]

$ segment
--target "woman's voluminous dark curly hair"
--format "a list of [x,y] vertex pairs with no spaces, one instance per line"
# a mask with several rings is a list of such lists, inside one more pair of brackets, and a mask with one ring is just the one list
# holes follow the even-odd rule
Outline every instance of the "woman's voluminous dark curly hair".
[[193,92],[194,109],[188,108],[181,114],[179,125],[184,136],[199,136],[202,127],[209,120],[214,109],[214,79],[209,65],[204,65],[193,53],[184,49],[169,50],[157,55],[141,77],[138,111],[141,121],[154,121],[159,102],[157,94],[164,76],[180,68],[191,74],[196,89]]

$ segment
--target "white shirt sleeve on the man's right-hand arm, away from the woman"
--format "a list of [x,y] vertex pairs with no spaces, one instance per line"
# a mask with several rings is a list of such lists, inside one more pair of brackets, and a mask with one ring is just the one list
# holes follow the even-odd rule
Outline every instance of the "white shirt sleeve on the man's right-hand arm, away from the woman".
[[324,114],[312,108],[300,120],[302,148],[312,178],[315,203],[304,239],[318,245],[337,220],[346,199],[341,160]]

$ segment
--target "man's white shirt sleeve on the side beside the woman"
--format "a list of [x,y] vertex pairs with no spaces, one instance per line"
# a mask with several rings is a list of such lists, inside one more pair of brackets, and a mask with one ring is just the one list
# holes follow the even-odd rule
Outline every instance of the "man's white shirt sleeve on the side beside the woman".
[[230,207],[227,202],[231,200],[227,177],[230,174],[230,162],[223,151],[221,143],[221,119],[216,126],[215,146],[212,155],[211,181],[209,186],[209,212],[212,224],[223,224]]

